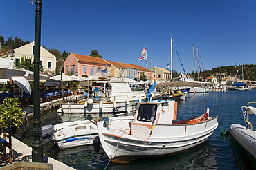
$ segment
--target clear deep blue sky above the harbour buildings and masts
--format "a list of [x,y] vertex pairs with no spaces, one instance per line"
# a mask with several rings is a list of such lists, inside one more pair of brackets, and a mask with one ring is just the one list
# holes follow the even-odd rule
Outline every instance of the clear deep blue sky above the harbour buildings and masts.
[[[0,35],[35,39],[35,3],[0,0]],[[35,0],[36,1],[36,0]],[[192,44],[203,66],[256,64],[255,0],[42,0],[41,45],[60,51],[138,64],[147,46],[147,67],[170,62],[170,37],[186,73],[191,73]],[[173,50],[173,69],[183,73]],[[151,62],[150,62],[151,61]]]

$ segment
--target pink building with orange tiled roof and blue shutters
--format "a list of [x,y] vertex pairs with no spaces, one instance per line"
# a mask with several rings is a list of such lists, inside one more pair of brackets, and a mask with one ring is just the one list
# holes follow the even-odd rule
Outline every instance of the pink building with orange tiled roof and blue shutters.
[[71,53],[64,62],[64,73],[107,76],[110,73],[110,66],[108,62],[99,57]]

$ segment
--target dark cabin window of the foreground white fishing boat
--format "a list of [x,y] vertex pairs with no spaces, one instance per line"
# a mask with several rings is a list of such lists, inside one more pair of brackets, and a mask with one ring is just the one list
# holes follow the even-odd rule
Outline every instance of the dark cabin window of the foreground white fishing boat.
[[141,104],[138,109],[138,121],[153,122],[156,117],[156,104]]

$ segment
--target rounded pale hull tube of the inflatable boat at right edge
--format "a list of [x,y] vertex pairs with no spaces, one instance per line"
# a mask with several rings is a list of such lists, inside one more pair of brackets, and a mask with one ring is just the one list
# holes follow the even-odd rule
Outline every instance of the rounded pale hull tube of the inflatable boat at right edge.
[[229,132],[246,151],[256,158],[256,131],[246,129],[240,124],[231,124]]

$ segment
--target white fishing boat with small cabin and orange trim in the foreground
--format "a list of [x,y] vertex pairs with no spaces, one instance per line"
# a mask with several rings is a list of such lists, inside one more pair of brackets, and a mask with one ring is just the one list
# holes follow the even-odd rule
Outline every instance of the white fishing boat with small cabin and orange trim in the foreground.
[[133,121],[98,122],[98,135],[109,159],[122,163],[187,151],[207,140],[218,126],[209,109],[187,120],[176,117],[174,100],[138,102]]

